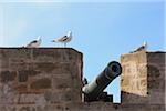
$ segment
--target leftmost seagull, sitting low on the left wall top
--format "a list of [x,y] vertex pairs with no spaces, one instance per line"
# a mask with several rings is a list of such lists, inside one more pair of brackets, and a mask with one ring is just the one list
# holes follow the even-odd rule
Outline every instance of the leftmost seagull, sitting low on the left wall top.
[[27,48],[39,48],[41,44],[41,37],[39,36],[37,40],[31,41],[29,44],[27,44]]

